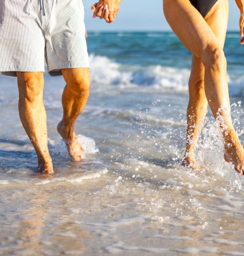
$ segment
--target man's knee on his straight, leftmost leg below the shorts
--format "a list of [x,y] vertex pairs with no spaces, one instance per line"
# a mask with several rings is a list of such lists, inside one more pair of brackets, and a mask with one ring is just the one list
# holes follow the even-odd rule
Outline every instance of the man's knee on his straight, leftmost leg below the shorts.
[[28,74],[18,77],[18,86],[20,96],[29,102],[34,102],[42,97],[44,81],[42,77]]

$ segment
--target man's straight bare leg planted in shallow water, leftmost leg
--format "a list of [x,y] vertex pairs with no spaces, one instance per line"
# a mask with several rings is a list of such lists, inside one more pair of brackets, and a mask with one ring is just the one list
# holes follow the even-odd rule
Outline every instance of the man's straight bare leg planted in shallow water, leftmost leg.
[[53,173],[48,151],[46,111],[43,102],[44,76],[42,72],[17,72],[19,113],[24,130],[37,152],[38,170]]

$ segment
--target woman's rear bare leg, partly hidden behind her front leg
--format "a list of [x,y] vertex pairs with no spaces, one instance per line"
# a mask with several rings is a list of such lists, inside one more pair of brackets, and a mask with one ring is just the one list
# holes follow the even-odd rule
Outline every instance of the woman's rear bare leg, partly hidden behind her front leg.
[[[221,6],[218,6],[221,5]],[[224,18],[223,18],[224,17]],[[228,1],[218,1],[211,8],[204,18],[213,30],[222,49],[227,32],[228,21]],[[219,20],[225,20],[220,23]],[[226,75],[227,81],[227,75]],[[228,95],[228,84],[225,83],[225,90]],[[191,76],[189,79],[189,104],[187,109],[187,129],[186,129],[186,151],[182,164],[193,169],[200,168],[195,161],[194,150],[198,142],[200,129],[207,112],[207,98],[204,91],[204,65],[196,56],[192,56]],[[230,108],[230,106],[229,106]]]

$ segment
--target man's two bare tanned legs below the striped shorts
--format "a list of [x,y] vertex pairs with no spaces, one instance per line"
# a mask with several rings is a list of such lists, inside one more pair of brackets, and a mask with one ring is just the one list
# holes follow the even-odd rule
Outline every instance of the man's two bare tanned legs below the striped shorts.
[[[63,91],[63,119],[57,129],[74,161],[81,161],[84,150],[74,133],[74,125],[89,97],[89,68],[62,69],[66,87]],[[43,72],[17,72],[20,119],[37,152],[38,170],[52,175],[52,159],[48,151],[46,111],[43,102]]]

